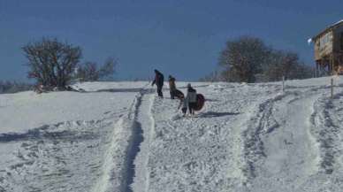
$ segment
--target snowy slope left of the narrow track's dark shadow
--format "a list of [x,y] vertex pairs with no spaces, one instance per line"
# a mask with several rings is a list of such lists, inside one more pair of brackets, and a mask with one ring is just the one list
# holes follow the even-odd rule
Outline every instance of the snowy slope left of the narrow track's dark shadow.
[[111,158],[125,161],[122,127],[137,93],[82,88],[90,92],[0,96],[0,191],[100,191],[101,180],[114,188],[106,178]]

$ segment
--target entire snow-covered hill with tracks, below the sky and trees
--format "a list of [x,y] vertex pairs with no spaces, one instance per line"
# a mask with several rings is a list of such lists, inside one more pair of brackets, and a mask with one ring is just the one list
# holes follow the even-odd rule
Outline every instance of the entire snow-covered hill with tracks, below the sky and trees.
[[[0,95],[0,191],[322,192],[343,188],[343,80],[192,83],[183,118],[149,82]],[[186,92],[187,82],[179,82]]]

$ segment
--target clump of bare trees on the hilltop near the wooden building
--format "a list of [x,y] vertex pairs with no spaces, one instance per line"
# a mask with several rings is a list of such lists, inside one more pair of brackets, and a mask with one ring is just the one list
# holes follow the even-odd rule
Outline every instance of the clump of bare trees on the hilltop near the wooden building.
[[218,58],[220,69],[202,81],[261,82],[312,77],[313,69],[297,53],[275,50],[263,40],[241,36],[225,43]]

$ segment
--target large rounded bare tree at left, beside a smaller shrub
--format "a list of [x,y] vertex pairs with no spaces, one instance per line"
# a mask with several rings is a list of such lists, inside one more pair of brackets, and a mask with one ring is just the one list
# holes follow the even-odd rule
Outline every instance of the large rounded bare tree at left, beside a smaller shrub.
[[28,77],[48,88],[65,88],[81,58],[80,47],[56,38],[28,43],[22,50],[28,59]]

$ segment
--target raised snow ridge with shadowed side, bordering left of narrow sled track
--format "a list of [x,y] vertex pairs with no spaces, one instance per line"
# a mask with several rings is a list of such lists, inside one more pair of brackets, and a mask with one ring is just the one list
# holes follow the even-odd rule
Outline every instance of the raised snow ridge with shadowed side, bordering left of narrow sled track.
[[135,161],[140,154],[141,143],[146,140],[144,131],[147,125],[140,119],[142,113],[147,113],[142,109],[146,104],[144,99],[152,91],[153,89],[146,88],[146,86],[141,88],[126,115],[121,117],[113,128],[110,135],[110,146],[103,157],[103,173],[92,191],[135,191],[133,184],[137,174],[138,177],[142,177],[141,180],[144,180],[144,182],[140,182],[141,186],[148,185],[147,177],[141,172],[137,173],[137,168],[140,168],[141,165],[137,166]]

